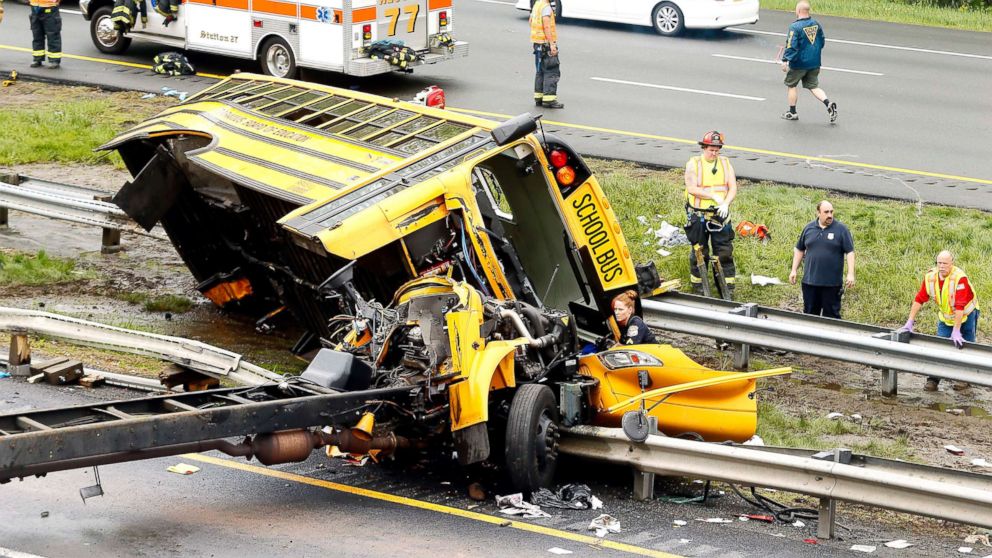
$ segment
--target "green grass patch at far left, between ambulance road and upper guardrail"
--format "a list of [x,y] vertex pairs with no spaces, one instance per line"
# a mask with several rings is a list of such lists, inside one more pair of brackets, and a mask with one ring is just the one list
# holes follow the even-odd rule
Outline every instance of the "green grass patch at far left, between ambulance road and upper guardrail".
[[141,95],[26,81],[4,88],[0,166],[109,162],[122,168],[116,152],[108,154],[93,149],[175,104],[172,98],[156,96],[143,100]]

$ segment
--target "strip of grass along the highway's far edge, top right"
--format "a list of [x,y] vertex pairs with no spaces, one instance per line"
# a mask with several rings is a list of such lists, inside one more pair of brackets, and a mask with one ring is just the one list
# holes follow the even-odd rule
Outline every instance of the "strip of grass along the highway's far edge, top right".
[[[812,5],[813,17],[831,15],[968,31],[992,31],[992,10],[987,8],[944,8],[925,2],[909,3],[900,0],[870,0],[867,2],[813,0]],[[796,2],[795,0],[761,0],[761,8],[792,12],[796,9]]]

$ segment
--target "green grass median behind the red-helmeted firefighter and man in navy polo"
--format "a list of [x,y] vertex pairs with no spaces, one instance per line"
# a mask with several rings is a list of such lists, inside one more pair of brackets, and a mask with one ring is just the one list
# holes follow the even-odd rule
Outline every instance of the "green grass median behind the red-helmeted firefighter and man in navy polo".
[[[655,238],[647,232],[649,226],[657,228],[662,220],[676,226],[685,223],[682,173],[652,171],[618,161],[594,159],[589,164],[613,200],[634,260],[653,259],[663,279],[677,278],[688,285],[689,247],[666,248],[672,255],[661,257],[656,253]],[[844,295],[844,319],[883,327],[901,326],[923,274],[945,248],[956,254],[955,264],[968,273],[979,306],[992,300],[992,269],[987,265],[992,259],[992,219],[987,213],[924,205],[917,215],[911,203],[747,181],[739,185],[732,219],[735,223],[743,219],[764,223],[771,230],[772,240],[767,244],[754,238],[734,241],[738,300],[802,309],[799,285],[788,284],[793,247],[802,228],[815,218],[817,201],[824,198],[831,200],[837,220],[846,224],[854,236],[857,283]],[[648,226],[639,224],[638,216],[647,217]],[[778,277],[785,284],[751,285],[751,274]],[[928,303],[920,313],[918,332],[936,332],[934,307]],[[981,315],[979,341],[989,338],[990,314]]]

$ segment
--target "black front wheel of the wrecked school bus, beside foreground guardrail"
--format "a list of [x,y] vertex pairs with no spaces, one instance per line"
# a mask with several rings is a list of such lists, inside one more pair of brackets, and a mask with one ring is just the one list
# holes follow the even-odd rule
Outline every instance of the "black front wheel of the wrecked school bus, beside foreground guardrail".
[[522,492],[551,486],[558,465],[558,404],[551,388],[517,389],[506,424],[506,469]]

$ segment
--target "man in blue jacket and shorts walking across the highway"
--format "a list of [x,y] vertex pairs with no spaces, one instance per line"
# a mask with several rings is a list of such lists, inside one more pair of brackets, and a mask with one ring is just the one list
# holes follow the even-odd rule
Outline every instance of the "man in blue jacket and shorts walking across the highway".
[[834,123],[837,121],[837,103],[831,102],[820,89],[820,51],[827,40],[823,27],[809,15],[809,2],[806,0],[796,4],[796,18],[789,26],[782,52],[782,71],[785,72],[785,85],[789,88],[789,110],[782,114],[782,118],[799,120],[796,112],[799,90],[796,86],[802,81],[803,87],[827,107],[830,122]]

